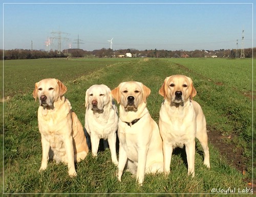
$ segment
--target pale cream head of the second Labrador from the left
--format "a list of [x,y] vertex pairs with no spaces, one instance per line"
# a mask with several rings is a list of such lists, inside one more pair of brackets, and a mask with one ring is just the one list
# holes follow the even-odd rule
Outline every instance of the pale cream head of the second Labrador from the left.
[[86,91],[86,108],[89,106],[91,110],[103,112],[105,106],[112,106],[111,90],[108,86],[92,85]]

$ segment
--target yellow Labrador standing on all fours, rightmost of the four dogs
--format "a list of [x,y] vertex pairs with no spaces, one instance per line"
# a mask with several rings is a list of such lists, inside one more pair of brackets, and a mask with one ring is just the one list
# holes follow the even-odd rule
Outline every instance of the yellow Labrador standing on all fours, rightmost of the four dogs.
[[206,121],[189,77],[174,75],[164,80],[159,93],[164,97],[160,109],[159,129],[163,139],[164,171],[169,173],[175,147],[185,145],[188,175],[195,176],[195,137],[204,151],[204,164],[210,167]]

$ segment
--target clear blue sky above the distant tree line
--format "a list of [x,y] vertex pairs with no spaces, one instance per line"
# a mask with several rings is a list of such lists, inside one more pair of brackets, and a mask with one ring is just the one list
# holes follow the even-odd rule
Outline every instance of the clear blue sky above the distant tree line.
[[[90,2],[93,4],[81,4]],[[243,29],[245,48],[254,46],[253,1],[95,2],[3,1],[1,48],[30,49],[33,41],[34,50],[47,50],[47,38],[58,36],[52,32],[62,32],[68,33],[61,34],[66,38],[61,41],[62,50],[70,45],[77,48],[78,35],[84,43],[80,48],[87,51],[109,48],[111,38],[114,50],[232,49],[237,47],[237,39],[241,47]],[[51,41],[49,48],[57,49],[58,40]]]

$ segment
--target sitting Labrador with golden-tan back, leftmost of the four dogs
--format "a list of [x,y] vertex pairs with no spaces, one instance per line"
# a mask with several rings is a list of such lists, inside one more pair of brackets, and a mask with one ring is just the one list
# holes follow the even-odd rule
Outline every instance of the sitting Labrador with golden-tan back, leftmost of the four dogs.
[[41,133],[42,161],[45,170],[48,159],[68,163],[69,175],[76,176],[74,162],[86,158],[89,149],[83,127],[71,104],[63,95],[67,87],[57,79],[35,83],[33,97],[38,98],[38,128]]

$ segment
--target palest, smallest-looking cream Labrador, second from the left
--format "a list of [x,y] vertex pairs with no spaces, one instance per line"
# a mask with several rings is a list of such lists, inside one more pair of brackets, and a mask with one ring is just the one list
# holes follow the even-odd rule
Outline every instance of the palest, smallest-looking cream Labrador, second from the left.
[[91,136],[92,154],[97,156],[99,140],[108,139],[111,158],[118,164],[116,156],[116,131],[118,127],[117,107],[108,86],[92,85],[86,91],[86,115],[84,118],[87,132]]

